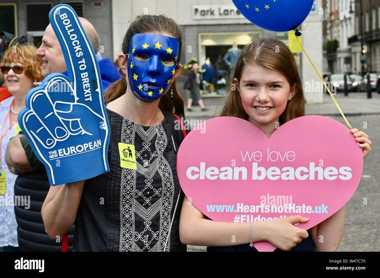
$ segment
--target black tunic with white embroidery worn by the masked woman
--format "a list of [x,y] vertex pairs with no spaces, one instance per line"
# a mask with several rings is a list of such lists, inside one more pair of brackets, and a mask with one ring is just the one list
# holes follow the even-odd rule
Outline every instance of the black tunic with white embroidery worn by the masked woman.
[[[164,119],[142,126],[106,111],[110,171],[85,182],[74,251],[186,251],[179,240],[184,194],[171,125]],[[119,142],[135,146],[137,170],[120,167]]]

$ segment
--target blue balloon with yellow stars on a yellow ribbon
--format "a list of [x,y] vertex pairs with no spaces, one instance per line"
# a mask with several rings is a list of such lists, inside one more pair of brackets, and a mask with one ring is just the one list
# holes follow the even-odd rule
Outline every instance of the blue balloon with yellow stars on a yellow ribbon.
[[261,28],[287,32],[295,30],[308,16],[314,0],[233,0],[236,8]]

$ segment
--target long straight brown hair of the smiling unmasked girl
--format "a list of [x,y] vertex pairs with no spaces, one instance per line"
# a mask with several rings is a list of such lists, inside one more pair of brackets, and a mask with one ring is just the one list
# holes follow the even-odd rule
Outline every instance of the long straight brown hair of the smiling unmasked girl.
[[231,88],[231,90],[226,96],[221,116],[248,119],[248,114],[243,108],[239,92],[232,90],[232,82],[234,78],[240,81],[244,66],[252,64],[279,71],[287,78],[290,88],[293,85],[298,88],[297,93],[291,100],[288,100],[285,111],[280,115],[280,125],[305,115],[305,97],[293,54],[282,41],[275,38],[261,37],[247,44],[239,54],[233,77],[229,84],[230,87],[227,87],[228,89]]

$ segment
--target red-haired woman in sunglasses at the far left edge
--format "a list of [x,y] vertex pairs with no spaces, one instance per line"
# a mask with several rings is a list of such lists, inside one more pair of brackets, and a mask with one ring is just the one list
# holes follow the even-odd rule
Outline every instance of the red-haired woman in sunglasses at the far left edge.
[[8,205],[0,206],[0,251],[18,251],[17,222],[14,215],[14,182],[17,175],[9,171],[5,152],[9,139],[19,131],[17,116],[25,107],[25,96],[34,87],[33,82],[42,82],[42,61],[32,45],[16,46],[4,52],[0,62],[5,86],[12,96],[0,103],[0,195]]

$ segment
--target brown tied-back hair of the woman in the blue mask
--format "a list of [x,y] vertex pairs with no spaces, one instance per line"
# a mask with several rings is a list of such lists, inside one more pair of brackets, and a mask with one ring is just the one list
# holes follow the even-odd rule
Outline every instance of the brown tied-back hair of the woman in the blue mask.
[[[129,45],[131,42],[131,38],[133,35],[138,33],[146,33],[146,32],[160,32],[160,33],[169,33],[179,40],[179,53],[177,61],[179,63],[181,58],[181,50],[182,50],[182,30],[179,25],[171,18],[166,17],[164,15],[149,15],[143,14],[141,16],[136,17],[136,19],[131,22],[127,33],[125,33],[123,43],[122,43],[122,52],[123,54],[128,54]],[[125,60],[127,62],[127,60]],[[179,69],[177,63],[177,70]],[[166,110],[169,112],[173,112],[176,114],[180,114],[185,116],[185,104],[182,97],[179,95],[176,87],[177,80],[173,81],[171,87],[173,88],[173,98],[170,94],[165,94],[161,96],[160,103],[158,107],[161,110]],[[116,100],[120,96],[125,93],[125,85],[124,85],[124,75],[118,81],[114,82],[112,85],[108,87],[105,92],[105,102]]]

